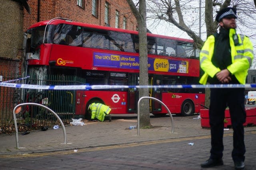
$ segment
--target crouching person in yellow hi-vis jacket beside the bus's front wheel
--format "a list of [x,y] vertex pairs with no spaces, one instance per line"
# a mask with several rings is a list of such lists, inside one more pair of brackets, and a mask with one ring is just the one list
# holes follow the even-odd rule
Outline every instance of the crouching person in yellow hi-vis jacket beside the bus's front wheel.
[[91,120],[92,121],[94,118],[98,119],[99,121],[104,121],[105,115],[108,115],[109,121],[111,121],[111,116],[110,116],[110,107],[101,104],[101,103],[92,103],[88,107],[88,111],[92,113]]

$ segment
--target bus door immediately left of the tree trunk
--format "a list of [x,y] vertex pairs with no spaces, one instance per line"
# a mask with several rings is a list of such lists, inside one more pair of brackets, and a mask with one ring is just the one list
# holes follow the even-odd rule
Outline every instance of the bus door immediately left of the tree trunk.
[[[139,74],[128,74],[128,84],[130,86],[137,86],[139,84]],[[136,112],[139,100],[139,91],[136,88],[128,89],[128,112]]]

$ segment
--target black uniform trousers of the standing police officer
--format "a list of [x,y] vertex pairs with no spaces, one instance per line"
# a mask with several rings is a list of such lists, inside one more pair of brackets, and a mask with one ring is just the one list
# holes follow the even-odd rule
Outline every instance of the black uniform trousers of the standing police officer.
[[244,161],[246,152],[243,126],[246,121],[244,88],[212,88],[210,90],[209,116],[212,145],[210,158],[219,159],[223,156],[224,112],[228,106],[234,131],[232,159],[234,162]]

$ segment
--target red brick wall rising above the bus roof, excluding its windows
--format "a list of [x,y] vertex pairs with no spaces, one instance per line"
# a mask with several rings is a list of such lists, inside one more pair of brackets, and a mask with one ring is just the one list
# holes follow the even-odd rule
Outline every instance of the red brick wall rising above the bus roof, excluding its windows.
[[[39,0],[39,21],[50,20],[55,17],[70,18],[73,21],[104,25],[105,3],[110,4],[110,27],[115,27],[116,10],[120,12],[119,27],[123,26],[124,16],[127,18],[127,29],[136,30],[136,19],[130,11],[126,0],[98,0],[97,16],[92,15],[92,0],[82,0],[82,7],[77,5],[77,0]],[[24,31],[30,25],[38,22],[38,0],[29,0],[31,15],[24,12]],[[25,10],[25,9],[24,9]]]

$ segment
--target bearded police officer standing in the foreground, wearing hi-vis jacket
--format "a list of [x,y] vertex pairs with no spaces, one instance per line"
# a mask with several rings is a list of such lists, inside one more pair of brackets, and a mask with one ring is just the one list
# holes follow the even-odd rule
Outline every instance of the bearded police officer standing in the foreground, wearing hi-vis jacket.
[[[200,66],[204,75],[201,84],[245,84],[248,68],[253,60],[253,47],[248,37],[236,33],[236,9],[224,8],[218,12],[220,32],[210,35],[200,52]],[[229,107],[233,128],[232,159],[236,169],[244,169],[244,127],[246,112],[244,88],[210,89],[210,158],[202,168],[223,165],[224,111]]]

